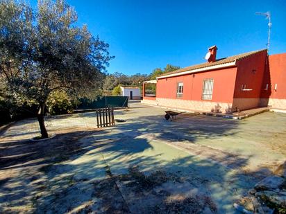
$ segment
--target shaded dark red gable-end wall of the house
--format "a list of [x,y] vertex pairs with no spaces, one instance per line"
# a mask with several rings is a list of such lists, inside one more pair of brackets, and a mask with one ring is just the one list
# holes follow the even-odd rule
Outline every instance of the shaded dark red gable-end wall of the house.
[[[266,57],[265,50],[237,62],[234,98],[260,98]],[[246,84],[246,89],[252,91],[242,91],[242,84]]]

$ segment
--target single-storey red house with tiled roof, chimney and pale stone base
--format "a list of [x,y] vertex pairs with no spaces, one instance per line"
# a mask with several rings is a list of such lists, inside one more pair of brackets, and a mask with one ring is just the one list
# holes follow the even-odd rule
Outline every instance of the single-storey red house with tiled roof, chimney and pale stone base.
[[[201,112],[237,112],[259,106],[286,110],[286,53],[267,49],[216,59],[159,75],[143,83],[143,103]],[[155,84],[155,95],[146,86]]]

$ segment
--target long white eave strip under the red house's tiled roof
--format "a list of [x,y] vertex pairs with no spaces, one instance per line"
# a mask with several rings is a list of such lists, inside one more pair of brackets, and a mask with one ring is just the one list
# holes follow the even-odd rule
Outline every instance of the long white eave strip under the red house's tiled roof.
[[170,74],[167,74],[167,75],[161,75],[161,76],[158,76],[156,79],[159,80],[159,79],[164,79],[164,78],[175,77],[175,76],[178,76],[178,75],[186,75],[186,74],[190,74],[190,73],[199,73],[199,72],[202,72],[202,71],[212,71],[212,70],[215,70],[215,69],[224,69],[224,68],[227,68],[227,67],[230,67],[230,66],[236,66],[236,60],[234,60],[233,62],[227,62],[227,63],[224,63],[224,64],[216,64],[216,65],[207,66],[207,67],[203,67],[203,68],[199,68],[199,69],[193,69],[193,70],[189,70],[189,71],[182,71],[182,72],[179,72],[179,73],[170,73]]

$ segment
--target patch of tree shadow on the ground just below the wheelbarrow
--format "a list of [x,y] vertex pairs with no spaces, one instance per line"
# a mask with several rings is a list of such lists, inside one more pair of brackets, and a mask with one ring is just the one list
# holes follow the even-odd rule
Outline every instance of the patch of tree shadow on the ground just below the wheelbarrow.
[[133,130],[136,134],[155,134],[161,138],[176,141],[196,139],[213,139],[221,136],[232,136],[239,132],[237,120],[216,118],[204,115],[182,115],[176,121],[166,121],[162,116],[140,116],[128,119],[129,123],[121,123],[119,129],[125,132]]

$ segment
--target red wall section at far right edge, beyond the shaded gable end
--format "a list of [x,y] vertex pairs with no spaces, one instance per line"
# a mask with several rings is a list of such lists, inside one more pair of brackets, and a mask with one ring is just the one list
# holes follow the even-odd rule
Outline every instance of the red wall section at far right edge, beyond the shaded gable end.
[[[269,65],[264,73],[261,97],[286,99],[286,53],[269,55]],[[268,90],[266,84],[269,84]],[[275,90],[277,84],[277,90]]]

